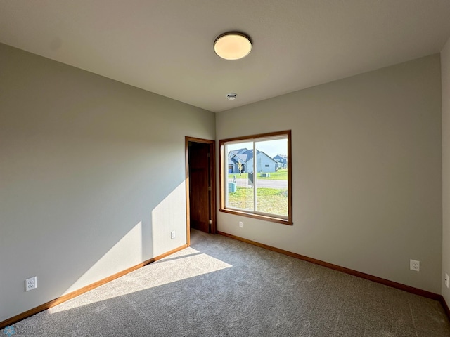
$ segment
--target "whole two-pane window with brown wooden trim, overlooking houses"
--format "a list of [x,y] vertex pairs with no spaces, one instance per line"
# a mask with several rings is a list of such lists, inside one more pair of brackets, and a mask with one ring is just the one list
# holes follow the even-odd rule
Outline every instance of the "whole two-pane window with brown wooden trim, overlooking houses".
[[220,211],[292,225],[290,131],[224,139],[219,145]]

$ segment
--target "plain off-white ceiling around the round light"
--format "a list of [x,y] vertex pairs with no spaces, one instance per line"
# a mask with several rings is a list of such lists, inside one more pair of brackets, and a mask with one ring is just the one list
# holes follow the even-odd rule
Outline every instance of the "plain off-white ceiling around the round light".
[[[228,31],[251,37],[247,58],[215,55]],[[0,0],[0,42],[213,112],[438,53],[449,37],[450,0]]]

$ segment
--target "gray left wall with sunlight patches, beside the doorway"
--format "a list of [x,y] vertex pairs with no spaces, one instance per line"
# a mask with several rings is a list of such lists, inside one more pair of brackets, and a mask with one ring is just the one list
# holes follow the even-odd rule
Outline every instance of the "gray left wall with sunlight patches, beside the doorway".
[[184,137],[214,120],[0,44],[0,321],[185,244]]

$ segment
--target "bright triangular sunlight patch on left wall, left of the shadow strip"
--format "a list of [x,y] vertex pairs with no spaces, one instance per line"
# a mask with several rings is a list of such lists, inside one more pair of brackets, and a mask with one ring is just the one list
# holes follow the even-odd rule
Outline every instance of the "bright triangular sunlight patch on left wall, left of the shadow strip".
[[[139,221],[117,244],[103,255],[62,295],[97,282],[142,262],[142,221]],[[99,275],[104,275],[99,277]]]

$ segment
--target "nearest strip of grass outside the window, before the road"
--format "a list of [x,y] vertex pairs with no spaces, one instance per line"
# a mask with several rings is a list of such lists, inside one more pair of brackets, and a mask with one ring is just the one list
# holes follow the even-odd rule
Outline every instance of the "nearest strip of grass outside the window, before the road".
[[[253,189],[237,187],[236,192],[229,193],[228,201],[229,207],[252,210]],[[279,190],[275,188],[258,188],[257,211],[287,216],[288,190]]]

